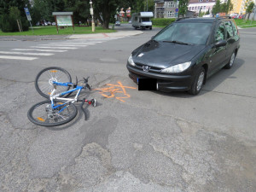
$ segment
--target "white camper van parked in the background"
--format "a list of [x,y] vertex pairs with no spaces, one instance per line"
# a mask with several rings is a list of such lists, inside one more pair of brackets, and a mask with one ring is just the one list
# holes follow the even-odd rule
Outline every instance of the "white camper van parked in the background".
[[140,12],[131,15],[131,26],[135,29],[152,29],[152,22],[150,18],[154,17],[153,12]]

